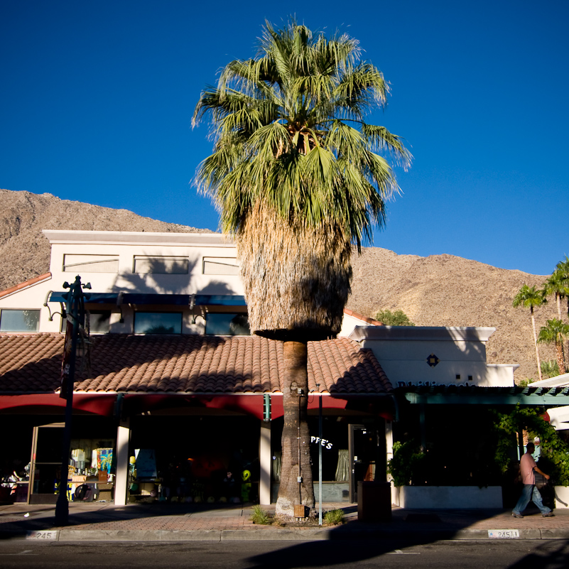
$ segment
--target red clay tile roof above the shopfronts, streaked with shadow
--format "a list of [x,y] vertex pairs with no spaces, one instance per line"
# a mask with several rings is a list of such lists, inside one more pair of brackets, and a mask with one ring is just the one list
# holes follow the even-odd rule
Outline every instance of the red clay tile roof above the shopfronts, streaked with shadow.
[[[0,335],[0,393],[59,389],[63,335]],[[317,388],[316,384],[320,384]],[[393,388],[373,352],[348,338],[308,342],[308,387],[331,394]],[[76,392],[281,393],[283,345],[251,337],[94,337],[91,372],[77,362]]]

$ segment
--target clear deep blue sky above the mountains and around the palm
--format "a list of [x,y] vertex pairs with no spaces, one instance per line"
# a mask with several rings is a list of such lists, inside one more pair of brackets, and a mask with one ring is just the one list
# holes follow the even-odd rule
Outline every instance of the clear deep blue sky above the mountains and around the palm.
[[[0,188],[217,229],[200,91],[265,19],[345,31],[415,159],[374,245],[551,273],[569,254],[569,3],[3,0]],[[371,120],[371,119],[370,119]]]

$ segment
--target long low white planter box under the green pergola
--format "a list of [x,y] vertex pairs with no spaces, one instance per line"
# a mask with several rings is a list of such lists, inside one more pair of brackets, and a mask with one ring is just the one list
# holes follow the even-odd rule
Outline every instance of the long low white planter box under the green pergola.
[[502,508],[502,487],[400,486],[391,487],[391,502],[411,509]]

